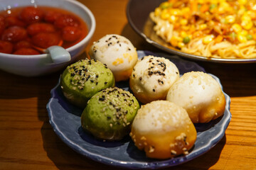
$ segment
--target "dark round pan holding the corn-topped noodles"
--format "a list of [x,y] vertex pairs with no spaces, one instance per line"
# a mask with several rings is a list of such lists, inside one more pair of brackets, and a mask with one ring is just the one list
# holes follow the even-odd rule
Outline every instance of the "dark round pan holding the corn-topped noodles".
[[[218,62],[218,63],[252,63],[256,62],[256,58],[252,59],[223,59],[223,58],[213,58],[213,57],[203,57],[199,55],[191,55],[186,52],[181,52],[180,50],[171,47],[171,45],[161,40],[159,36],[154,33],[153,26],[154,23],[149,19],[149,13],[154,11],[154,9],[161,4],[164,0],[130,0],[127,4],[127,19],[135,30],[146,42],[155,47],[169,52],[172,55],[179,55],[183,58],[204,62]],[[146,8],[144,8],[146,4]]]

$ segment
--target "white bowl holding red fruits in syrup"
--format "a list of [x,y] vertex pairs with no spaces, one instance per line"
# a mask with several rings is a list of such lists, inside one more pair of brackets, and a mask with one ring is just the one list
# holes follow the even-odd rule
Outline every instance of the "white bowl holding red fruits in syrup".
[[[31,4],[31,2],[33,1],[1,1],[0,11],[4,11],[8,8],[31,6],[33,5]],[[75,59],[79,55],[81,55],[82,52],[84,52],[85,47],[88,45],[88,42],[92,38],[96,27],[95,17],[93,16],[90,9],[81,4],[80,2],[74,0],[37,0],[36,5],[63,8],[77,14],[85,21],[88,29],[88,34],[76,45],[68,47],[63,54],[61,54],[61,50],[57,50],[57,60],[53,60],[54,58],[56,58],[56,56],[52,56],[56,53],[54,50],[53,52],[51,51],[51,54],[47,53],[42,55],[9,55],[0,52],[0,69],[25,77],[36,77],[43,74],[49,74],[50,72],[56,72],[66,67],[68,64],[74,62]],[[67,56],[65,52],[69,53],[71,56],[69,57],[69,61],[67,61]],[[62,56],[63,58],[61,58]]]

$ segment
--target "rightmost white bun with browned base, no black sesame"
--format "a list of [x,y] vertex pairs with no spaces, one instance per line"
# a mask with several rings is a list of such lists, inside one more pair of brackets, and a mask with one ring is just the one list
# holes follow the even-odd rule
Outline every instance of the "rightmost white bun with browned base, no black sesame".
[[188,72],[169,89],[166,100],[186,109],[193,123],[208,123],[225,111],[220,84],[204,72]]

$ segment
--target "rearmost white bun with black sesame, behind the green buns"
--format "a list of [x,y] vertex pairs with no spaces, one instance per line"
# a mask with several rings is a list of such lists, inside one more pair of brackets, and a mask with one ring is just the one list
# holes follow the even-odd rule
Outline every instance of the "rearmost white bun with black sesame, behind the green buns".
[[110,34],[93,42],[89,55],[107,64],[114,74],[115,81],[129,79],[132,68],[138,60],[136,48],[122,35]]

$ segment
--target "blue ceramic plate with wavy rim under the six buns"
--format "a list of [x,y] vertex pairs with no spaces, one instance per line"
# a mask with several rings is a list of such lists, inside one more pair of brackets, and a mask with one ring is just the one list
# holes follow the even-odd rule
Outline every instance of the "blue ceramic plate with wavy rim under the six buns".
[[[182,60],[176,56],[170,57],[163,53],[152,53],[148,51],[138,51],[138,55],[139,57],[145,55],[169,57],[171,62],[176,64],[181,74],[191,71],[205,72],[198,64]],[[212,74],[210,75],[220,83],[217,77]],[[117,86],[129,90],[128,82],[119,83]],[[195,125],[197,140],[189,154],[173,159],[149,159],[143,151],[140,151],[134,146],[128,135],[119,142],[104,142],[96,140],[90,134],[83,132],[80,123],[82,110],[65,100],[59,84],[50,91],[50,94],[51,98],[47,104],[50,125],[52,125],[53,130],[63,142],[76,152],[96,162],[129,169],[158,169],[188,162],[214,147],[225,134],[225,130],[231,119],[230,97],[225,94],[227,103],[224,115],[217,120],[210,121],[210,123],[198,123]]]

